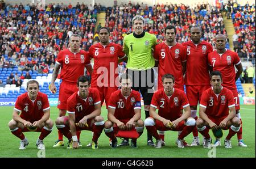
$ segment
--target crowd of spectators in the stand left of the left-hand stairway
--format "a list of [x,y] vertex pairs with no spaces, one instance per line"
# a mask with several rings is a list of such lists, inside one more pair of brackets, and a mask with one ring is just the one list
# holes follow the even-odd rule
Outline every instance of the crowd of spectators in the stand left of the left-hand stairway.
[[60,50],[68,48],[68,37],[82,37],[82,49],[93,44],[99,5],[76,6],[50,3],[5,5],[0,8],[0,68],[15,67],[24,71],[48,73],[54,68]]

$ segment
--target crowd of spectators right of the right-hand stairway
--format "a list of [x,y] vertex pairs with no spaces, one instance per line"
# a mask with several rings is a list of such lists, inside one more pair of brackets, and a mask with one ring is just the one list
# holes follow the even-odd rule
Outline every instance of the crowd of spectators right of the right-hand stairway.
[[255,65],[255,5],[247,2],[245,6],[239,6],[229,1],[226,6],[231,10],[230,18],[236,31],[233,35],[234,50]]

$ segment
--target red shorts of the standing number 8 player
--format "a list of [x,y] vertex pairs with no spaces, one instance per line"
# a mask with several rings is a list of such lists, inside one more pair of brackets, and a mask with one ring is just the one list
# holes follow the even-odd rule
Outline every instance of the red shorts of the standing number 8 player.
[[59,101],[57,108],[67,109],[67,100],[74,92],[78,91],[76,83],[62,81],[60,84]]

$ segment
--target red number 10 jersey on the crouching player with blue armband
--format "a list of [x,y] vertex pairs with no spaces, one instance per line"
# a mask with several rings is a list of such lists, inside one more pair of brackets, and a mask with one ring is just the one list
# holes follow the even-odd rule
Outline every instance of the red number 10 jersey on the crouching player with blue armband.
[[131,119],[135,115],[134,109],[141,109],[141,94],[131,90],[131,94],[125,97],[121,90],[117,90],[110,96],[109,108],[115,109],[114,116],[118,120]]

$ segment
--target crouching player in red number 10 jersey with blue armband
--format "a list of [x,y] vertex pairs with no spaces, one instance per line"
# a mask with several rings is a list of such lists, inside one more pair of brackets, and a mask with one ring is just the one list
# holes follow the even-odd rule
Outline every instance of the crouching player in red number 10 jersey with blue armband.
[[[119,82],[121,90],[113,92],[110,96],[108,120],[104,125],[104,131],[106,136],[111,138],[113,148],[117,147],[117,138],[114,132],[135,128],[138,135],[141,136],[144,129],[144,122],[141,119],[141,95],[138,91],[131,90],[132,79],[130,75],[122,74]],[[117,131],[114,131],[113,126],[117,128]],[[131,147],[137,148],[137,139],[131,140]]]

